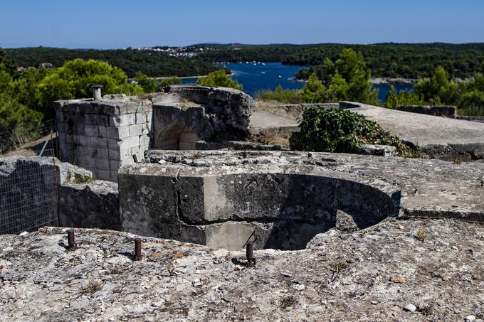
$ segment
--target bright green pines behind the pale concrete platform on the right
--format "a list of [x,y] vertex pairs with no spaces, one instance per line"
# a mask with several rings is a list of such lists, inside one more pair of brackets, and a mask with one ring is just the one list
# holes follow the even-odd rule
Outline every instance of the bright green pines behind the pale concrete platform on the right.
[[[483,66],[480,66],[483,70]],[[479,71],[479,70],[478,70]],[[321,73],[312,73],[302,90],[265,90],[258,93],[261,100],[283,103],[324,103],[348,100],[382,106],[377,90],[372,90],[372,70],[361,52],[344,48],[335,60],[327,59]],[[451,73],[437,66],[431,77],[423,77],[414,85],[414,91],[396,94],[391,87],[386,108],[396,105],[453,105],[461,115],[484,115],[484,75],[473,74],[473,80],[456,82]]]

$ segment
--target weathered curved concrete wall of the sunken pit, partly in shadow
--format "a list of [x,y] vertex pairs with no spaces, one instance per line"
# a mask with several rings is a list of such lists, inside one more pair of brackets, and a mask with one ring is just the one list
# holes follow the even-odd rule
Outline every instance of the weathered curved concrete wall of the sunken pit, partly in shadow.
[[137,164],[120,170],[122,230],[241,249],[256,230],[258,248],[302,249],[335,227],[339,210],[359,228],[396,211],[395,190],[314,167],[238,171]]

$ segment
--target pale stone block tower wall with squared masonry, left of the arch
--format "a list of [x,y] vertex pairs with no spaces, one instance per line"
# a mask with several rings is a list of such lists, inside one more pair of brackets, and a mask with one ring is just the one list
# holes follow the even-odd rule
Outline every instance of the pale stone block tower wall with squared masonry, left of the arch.
[[149,148],[152,102],[125,95],[54,103],[62,161],[117,182],[117,170]]

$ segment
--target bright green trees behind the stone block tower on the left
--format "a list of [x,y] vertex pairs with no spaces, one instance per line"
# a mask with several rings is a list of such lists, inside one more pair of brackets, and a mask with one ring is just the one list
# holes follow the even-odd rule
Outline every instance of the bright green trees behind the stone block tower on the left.
[[[144,68],[149,66],[149,62]],[[214,65],[216,67],[216,65]],[[0,49],[0,152],[43,134],[43,122],[55,117],[53,102],[91,97],[93,84],[102,85],[103,94],[124,93],[142,95],[157,92],[161,87],[181,84],[179,77],[161,82],[141,71],[135,73],[135,83],[128,83],[122,68],[102,60],[75,58],[58,68],[19,70],[18,63]],[[225,70],[209,70],[199,84],[241,88]]]

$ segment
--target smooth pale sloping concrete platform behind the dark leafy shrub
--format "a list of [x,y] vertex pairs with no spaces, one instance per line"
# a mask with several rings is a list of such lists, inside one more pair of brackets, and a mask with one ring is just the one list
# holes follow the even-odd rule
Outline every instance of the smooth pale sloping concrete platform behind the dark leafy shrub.
[[[251,119],[251,132],[280,129],[297,131],[298,119],[306,108],[336,108],[335,104],[278,105],[256,111]],[[356,102],[340,102],[340,108],[364,115],[404,141],[419,146],[434,159],[484,159],[484,123],[449,119],[426,114],[396,111]]]

